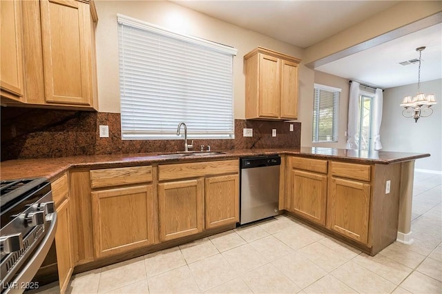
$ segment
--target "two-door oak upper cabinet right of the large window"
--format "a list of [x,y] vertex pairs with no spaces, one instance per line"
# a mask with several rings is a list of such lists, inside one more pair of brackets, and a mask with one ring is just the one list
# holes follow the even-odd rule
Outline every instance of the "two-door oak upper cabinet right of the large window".
[[246,119],[297,119],[300,59],[258,47],[244,61]]

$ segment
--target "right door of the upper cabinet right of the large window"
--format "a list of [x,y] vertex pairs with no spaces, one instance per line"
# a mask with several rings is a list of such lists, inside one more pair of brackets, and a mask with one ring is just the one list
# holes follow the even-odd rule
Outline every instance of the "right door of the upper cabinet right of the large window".
[[298,63],[281,60],[281,118],[298,118]]

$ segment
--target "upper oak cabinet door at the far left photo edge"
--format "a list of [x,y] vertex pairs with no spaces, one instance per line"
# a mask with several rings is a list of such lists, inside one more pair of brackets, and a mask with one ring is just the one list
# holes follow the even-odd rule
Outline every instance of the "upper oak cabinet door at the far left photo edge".
[[23,97],[23,50],[21,41],[21,1],[0,1],[1,90],[6,97]]

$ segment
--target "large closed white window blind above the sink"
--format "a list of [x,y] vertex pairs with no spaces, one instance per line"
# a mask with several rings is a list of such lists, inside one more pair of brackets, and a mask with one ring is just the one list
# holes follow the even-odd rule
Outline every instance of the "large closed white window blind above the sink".
[[236,49],[118,15],[122,139],[233,138]]

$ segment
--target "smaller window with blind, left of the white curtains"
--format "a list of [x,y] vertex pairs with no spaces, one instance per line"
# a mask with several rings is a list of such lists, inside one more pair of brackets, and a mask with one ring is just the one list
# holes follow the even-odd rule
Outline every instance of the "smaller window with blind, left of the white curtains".
[[340,89],[314,84],[313,141],[338,141]]

